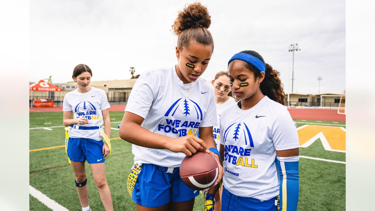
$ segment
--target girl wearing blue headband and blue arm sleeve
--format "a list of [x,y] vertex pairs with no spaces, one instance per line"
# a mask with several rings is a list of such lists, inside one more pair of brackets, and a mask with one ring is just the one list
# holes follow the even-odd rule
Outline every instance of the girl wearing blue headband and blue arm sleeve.
[[279,72],[255,51],[235,54],[228,72],[239,102],[219,122],[222,210],[296,211],[299,140]]

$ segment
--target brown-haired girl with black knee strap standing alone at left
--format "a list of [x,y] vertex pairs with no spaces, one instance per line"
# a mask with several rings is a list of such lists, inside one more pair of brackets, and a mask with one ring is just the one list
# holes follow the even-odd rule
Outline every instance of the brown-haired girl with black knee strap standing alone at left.
[[73,167],[82,210],[91,211],[86,185],[85,161],[87,160],[104,209],[111,211],[113,203],[104,166],[104,161],[110,153],[108,137],[111,137],[109,113],[111,106],[104,90],[90,86],[91,77],[92,71],[89,66],[84,64],[75,66],[72,78],[77,82],[77,89],[68,92],[63,101],[63,123],[68,131],[65,146],[68,161]]

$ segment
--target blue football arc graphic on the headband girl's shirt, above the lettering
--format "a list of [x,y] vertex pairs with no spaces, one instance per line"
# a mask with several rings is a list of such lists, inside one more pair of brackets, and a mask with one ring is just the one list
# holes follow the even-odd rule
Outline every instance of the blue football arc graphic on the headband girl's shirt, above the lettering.
[[224,142],[233,140],[235,142],[242,141],[245,145],[254,147],[253,138],[251,136],[248,125],[245,122],[234,122],[224,131]]

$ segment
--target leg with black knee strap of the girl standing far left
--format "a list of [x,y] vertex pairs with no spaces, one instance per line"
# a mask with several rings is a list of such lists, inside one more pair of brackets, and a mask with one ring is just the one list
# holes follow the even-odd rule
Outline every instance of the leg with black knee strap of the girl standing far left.
[[[84,182],[86,180],[86,170],[84,162],[72,161],[72,167],[75,175],[75,181],[77,183]],[[87,185],[77,187],[78,197],[80,198],[81,206],[89,206],[89,193],[87,192]]]

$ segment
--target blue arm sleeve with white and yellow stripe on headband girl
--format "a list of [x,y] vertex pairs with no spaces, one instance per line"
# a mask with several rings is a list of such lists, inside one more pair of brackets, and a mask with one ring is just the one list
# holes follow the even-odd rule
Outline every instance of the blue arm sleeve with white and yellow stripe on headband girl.
[[276,157],[280,174],[280,211],[296,211],[300,190],[299,156]]

